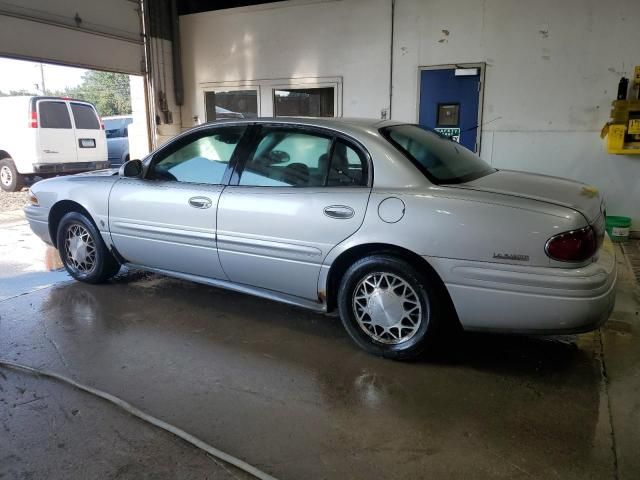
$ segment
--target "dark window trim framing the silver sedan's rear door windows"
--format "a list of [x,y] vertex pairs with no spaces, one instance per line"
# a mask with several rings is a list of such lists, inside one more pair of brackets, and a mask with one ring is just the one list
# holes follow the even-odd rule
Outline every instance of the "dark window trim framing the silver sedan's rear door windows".
[[[260,132],[263,128],[272,128],[278,130],[293,130],[300,131],[302,133],[314,133],[319,136],[324,136],[330,139],[331,143],[329,145],[329,150],[327,152],[328,155],[333,154],[334,146],[336,140],[341,140],[348,147],[352,148],[361,159],[364,159],[366,165],[366,175],[367,175],[367,183],[366,185],[353,185],[351,187],[344,186],[329,186],[326,185],[328,180],[328,172],[325,177],[325,185],[313,186],[313,187],[294,187],[290,185],[240,185],[240,177],[242,176],[242,172],[244,171],[244,167],[250,158],[252,158],[256,149],[258,148],[258,140],[260,137]],[[356,139],[345,135],[336,130],[318,127],[315,125],[299,125],[299,124],[289,124],[289,123],[277,123],[277,122],[264,122],[264,123],[254,123],[252,126],[251,134],[245,133],[243,140],[246,140],[244,149],[242,151],[242,155],[239,155],[240,158],[237,158],[237,163],[234,164],[233,172],[231,173],[231,178],[229,180],[228,186],[230,187],[238,187],[238,188],[268,188],[268,189],[279,189],[279,190],[308,190],[308,189],[339,189],[343,191],[347,188],[357,188],[357,189],[371,189],[373,185],[373,162],[371,161],[371,155],[369,151]],[[238,153],[238,149],[236,152]]]

